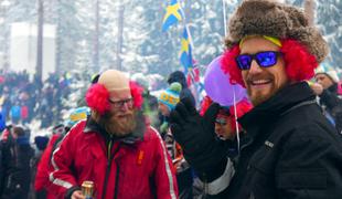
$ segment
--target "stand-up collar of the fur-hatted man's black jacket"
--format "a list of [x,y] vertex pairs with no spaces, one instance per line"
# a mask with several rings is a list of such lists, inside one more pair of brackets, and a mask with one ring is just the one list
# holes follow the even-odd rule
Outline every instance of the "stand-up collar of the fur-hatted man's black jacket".
[[284,87],[266,102],[254,107],[238,119],[250,136],[256,136],[258,128],[274,124],[279,116],[306,104],[316,103],[316,95],[308,83],[301,82]]

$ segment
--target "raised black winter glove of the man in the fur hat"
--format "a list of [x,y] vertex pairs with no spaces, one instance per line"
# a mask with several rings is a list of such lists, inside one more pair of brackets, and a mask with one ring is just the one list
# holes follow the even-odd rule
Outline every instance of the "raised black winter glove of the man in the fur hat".
[[215,118],[220,105],[214,103],[200,116],[189,98],[182,98],[170,115],[171,132],[182,146],[184,157],[197,172],[224,168],[227,146],[216,138]]

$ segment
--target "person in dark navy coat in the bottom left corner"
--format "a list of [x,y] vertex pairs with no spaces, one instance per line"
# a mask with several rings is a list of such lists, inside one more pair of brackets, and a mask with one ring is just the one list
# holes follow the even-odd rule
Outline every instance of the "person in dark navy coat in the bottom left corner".
[[31,166],[34,155],[29,137],[22,127],[10,129],[8,139],[1,140],[3,161],[2,199],[26,199],[30,190]]

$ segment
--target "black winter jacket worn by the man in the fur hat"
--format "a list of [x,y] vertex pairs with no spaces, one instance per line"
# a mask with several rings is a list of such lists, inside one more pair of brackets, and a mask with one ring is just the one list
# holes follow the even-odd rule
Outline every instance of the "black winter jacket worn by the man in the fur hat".
[[342,140],[307,83],[282,88],[239,122],[252,142],[221,198],[342,198]]

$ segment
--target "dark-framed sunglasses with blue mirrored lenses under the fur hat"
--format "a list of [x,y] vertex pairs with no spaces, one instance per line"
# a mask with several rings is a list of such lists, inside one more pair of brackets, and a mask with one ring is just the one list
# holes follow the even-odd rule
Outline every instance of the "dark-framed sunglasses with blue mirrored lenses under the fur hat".
[[260,67],[270,67],[277,63],[277,57],[281,55],[278,51],[263,51],[255,54],[241,54],[235,61],[239,70],[249,70],[252,61],[255,60]]

